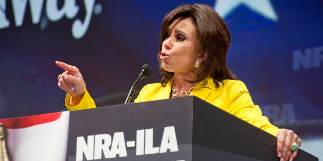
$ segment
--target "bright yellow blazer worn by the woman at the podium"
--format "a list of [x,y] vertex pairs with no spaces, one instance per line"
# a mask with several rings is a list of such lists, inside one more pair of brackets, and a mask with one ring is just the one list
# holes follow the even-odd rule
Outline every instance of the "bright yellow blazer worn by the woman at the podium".
[[[190,95],[196,96],[206,102],[245,120],[272,135],[276,135],[279,128],[273,126],[267,117],[262,115],[259,106],[253,103],[253,100],[241,81],[225,80],[220,83],[220,88],[216,88],[211,77],[204,81],[196,83]],[[170,97],[172,82],[165,87],[160,83],[148,84],[141,89],[135,103],[147,102],[151,100],[167,99]],[[70,95],[67,94],[65,105],[68,110],[80,110],[95,108],[95,103],[86,91],[81,102],[73,107],[73,101],[70,102]],[[215,107],[214,107],[215,108]]]

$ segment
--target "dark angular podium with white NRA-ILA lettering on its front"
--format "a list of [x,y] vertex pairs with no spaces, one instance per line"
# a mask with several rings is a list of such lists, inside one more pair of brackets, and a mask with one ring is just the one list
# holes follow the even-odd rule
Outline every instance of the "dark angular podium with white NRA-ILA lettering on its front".
[[279,160],[275,136],[194,96],[63,113],[66,160]]

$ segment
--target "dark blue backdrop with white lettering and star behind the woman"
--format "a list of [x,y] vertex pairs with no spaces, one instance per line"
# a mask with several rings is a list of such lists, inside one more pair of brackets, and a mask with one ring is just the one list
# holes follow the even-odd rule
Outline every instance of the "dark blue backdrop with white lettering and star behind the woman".
[[97,106],[124,103],[143,64],[152,74],[136,92],[161,79],[164,15],[202,3],[225,19],[227,64],[264,115],[302,135],[323,135],[322,1],[32,2],[0,1],[0,118],[66,110],[57,60],[80,69]]

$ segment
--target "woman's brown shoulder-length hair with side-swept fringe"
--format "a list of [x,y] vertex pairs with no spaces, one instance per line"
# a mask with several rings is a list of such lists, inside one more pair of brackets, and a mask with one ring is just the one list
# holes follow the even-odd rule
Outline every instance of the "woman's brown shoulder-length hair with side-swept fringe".
[[196,27],[198,39],[196,52],[207,53],[207,59],[201,63],[196,73],[198,78],[187,82],[198,83],[210,75],[218,88],[220,87],[219,82],[223,83],[224,79],[237,79],[226,65],[226,54],[231,42],[229,29],[213,8],[203,4],[194,4],[179,6],[170,11],[163,19],[157,56],[159,72],[164,76],[161,79],[161,85],[165,86],[174,76],[173,72],[168,72],[161,67],[159,58],[163,42],[167,38],[168,28],[176,19],[187,17],[193,19]]

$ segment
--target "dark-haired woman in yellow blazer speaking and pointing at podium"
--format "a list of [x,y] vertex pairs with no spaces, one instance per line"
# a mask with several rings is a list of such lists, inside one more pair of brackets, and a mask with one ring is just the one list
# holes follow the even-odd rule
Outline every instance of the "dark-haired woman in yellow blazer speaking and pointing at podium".
[[[143,87],[135,103],[197,96],[277,136],[278,157],[293,160],[300,138],[292,130],[271,125],[254,105],[246,86],[228,69],[230,41],[227,26],[212,8],[201,4],[177,7],[165,16],[161,26],[158,61],[164,77],[161,83]],[[66,70],[59,76],[58,85],[68,93],[67,109],[95,108],[79,70],[62,62],[56,64]]]

